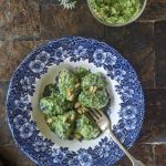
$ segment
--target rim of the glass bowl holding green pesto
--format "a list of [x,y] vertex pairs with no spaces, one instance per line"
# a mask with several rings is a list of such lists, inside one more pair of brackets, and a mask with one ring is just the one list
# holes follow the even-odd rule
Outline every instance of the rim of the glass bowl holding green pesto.
[[102,20],[101,18],[98,18],[98,17],[95,14],[94,10],[92,9],[92,6],[90,4],[90,0],[87,0],[87,6],[89,6],[89,9],[90,9],[92,15],[93,15],[98,22],[101,22],[102,24],[107,25],[107,27],[123,27],[123,25],[127,25],[127,24],[129,24],[129,23],[136,21],[136,20],[143,14],[143,12],[144,12],[144,10],[145,10],[145,8],[146,8],[146,4],[147,4],[147,0],[143,0],[143,1],[144,1],[144,2],[143,2],[143,6],[142,6],[142,9],[141,9],[139,12],[136,14],[136,17],[134,17],[134,18],[131,19],[129,21],[127,21],[127,22],[125,22],[125,23],[122,23],[122,24],[120,24],[120,23],[112,23],[112,24],[111,24],[111,23],[105,22],[104,20]]

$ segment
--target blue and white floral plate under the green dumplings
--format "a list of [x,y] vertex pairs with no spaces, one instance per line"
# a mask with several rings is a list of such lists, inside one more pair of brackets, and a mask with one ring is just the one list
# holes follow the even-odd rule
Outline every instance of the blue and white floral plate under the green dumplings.
[[20,148],[40,166],[110,166],[123,157],[102,134],[93,141],[62,141],[52,133],[39,108],[44,86],[63,68],[84,66],[103,73],[111,105],[106,112],[117,138],[131,147],[144,118],[144,95],[131,64],[113,48],[92,39],[63,38],[32,51],[19,65],[7,97],[8,121]]

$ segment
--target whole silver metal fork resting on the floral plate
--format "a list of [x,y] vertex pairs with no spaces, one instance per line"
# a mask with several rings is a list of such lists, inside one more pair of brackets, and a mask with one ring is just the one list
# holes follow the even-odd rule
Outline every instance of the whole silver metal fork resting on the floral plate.
[[111,121],[106,117],[106,115],[103,112],[92,108],[89,112],[89,114],[93,117],[98,127],[103,132],[106,132],[112,137],[112,139],[118,145],[118,147],[126,154],[126,156],[131,159],[133,166],[145,166],[141,160],[135,159],[121,144],[121,142],[115,137],[114,133],[111,129]]

